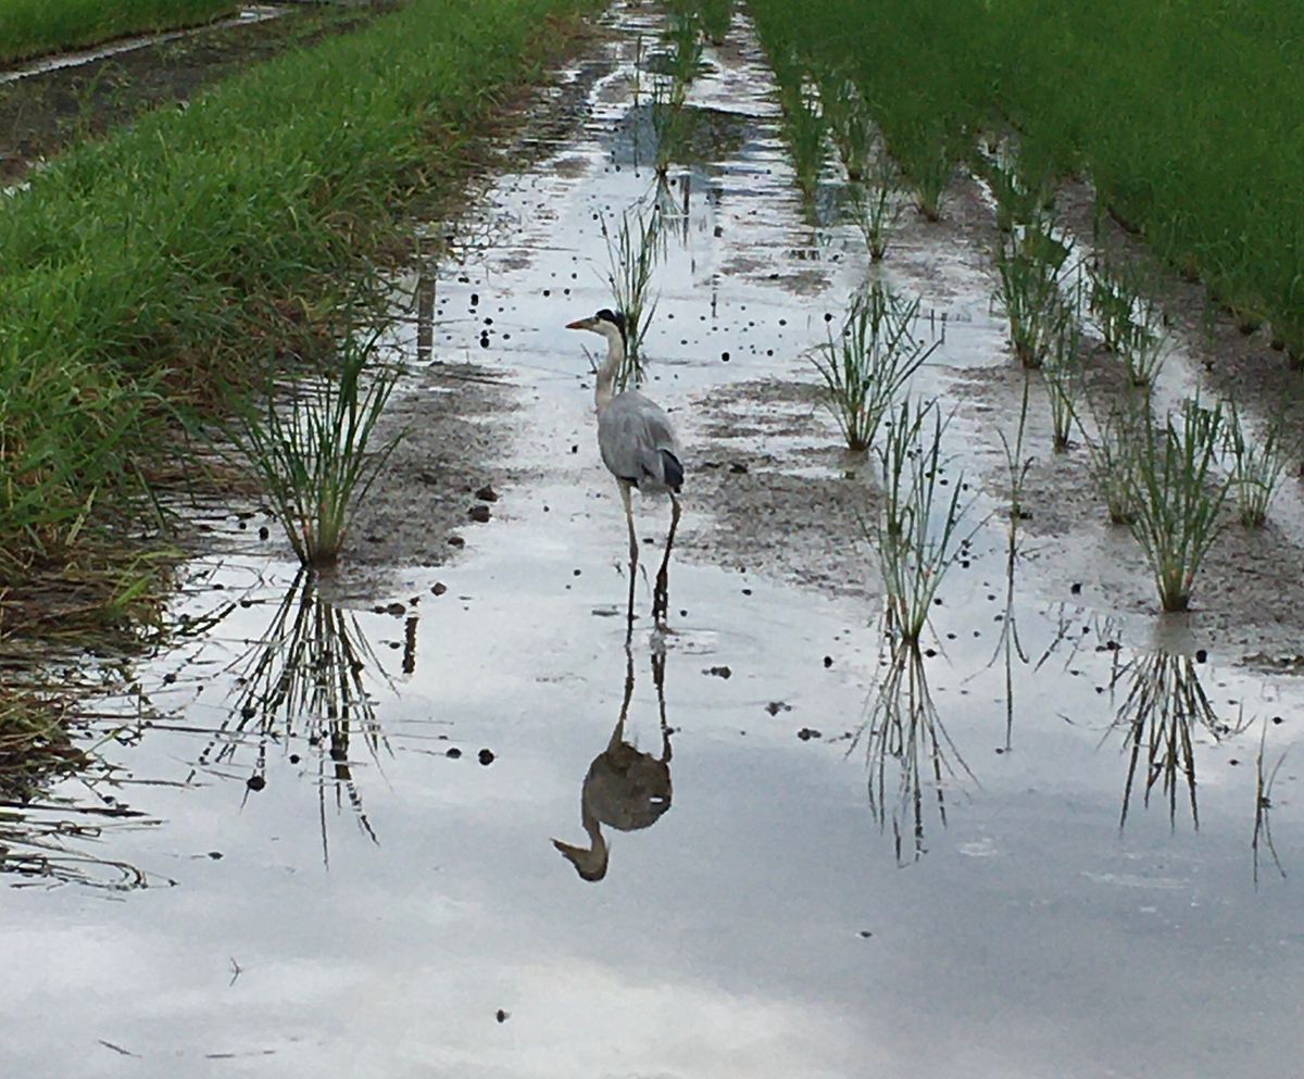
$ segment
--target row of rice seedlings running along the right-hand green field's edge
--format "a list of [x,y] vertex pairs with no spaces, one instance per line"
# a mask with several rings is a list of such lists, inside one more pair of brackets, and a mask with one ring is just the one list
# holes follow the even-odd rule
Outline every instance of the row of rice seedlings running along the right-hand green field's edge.
[[[1248,528],[1266,521],[1288,460],[1283,418],[1254,438],[1235,401],[1192,399],[1154,417],[1151,388],[1171,351],[1157,281],[1138,262],[1074,258],[1045,181],[1030,192],[1008,152],[986,175],[1001,225],[994,301],[1016,358],[1029,377],[1043,375],[1054,447],[1067,452],[1081,433],[1110,520],[1140,543],[1162,609],[1187,610],[1223,503],[1235,500]],[[1086,400],[1089,345],[1121,366],[1123,394],[1099,405]]]

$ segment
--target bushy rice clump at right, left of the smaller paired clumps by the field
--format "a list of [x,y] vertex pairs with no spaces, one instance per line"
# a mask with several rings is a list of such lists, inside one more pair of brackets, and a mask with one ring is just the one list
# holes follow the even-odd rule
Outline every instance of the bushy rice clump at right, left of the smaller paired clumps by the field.
[[1009,319],[1009,340],[1018,362],[1041,367],[1063,319],[1060,268],[1064,246],[1048,225],[1026,225],[996,246],[995,300]]

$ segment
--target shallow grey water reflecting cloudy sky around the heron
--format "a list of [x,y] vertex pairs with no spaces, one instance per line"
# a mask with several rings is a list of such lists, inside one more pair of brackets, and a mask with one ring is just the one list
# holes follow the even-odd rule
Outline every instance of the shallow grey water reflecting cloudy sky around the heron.
[[[614,125],[619,61],[656,23],[615,18],[583,130],[497,185],[436,289],[432,354],[519,387],[506,452],[529,480],[454,564],[395,567],[382,599],[347,609],[227,523],[190,567],[176,645],[100,706],[121,770],[57,792],[102,812],[44,811],[100,829],[44,848],[73,882],[0,894],[7,1066],[1290,1074],[1301,904],[1251,841],[1261,731],[1269,768],[1296,740],[1292,679],[1035,576],[1008,602],[996,521],[944,584],[922,672],[895,671],[876,607],[747,567],[691,496],[686,542],[717,556],[674,566],[665,637],[640,579],[626,652],[625,524],[582,340],[562,328],[608,302],[595,214],[651,184]],[[711,401],[810,381],[798,354],[863,274],[845,233],[802,223],[742,29],[692,98],[734,113],[739,138],[690,173],[647,347],[690,474],[760,437],[712,435]],[[911,232],[893,266],[945,315],[922,392],[1003,362],[981,252]],[[807,453],[832,438],[822,414],[755,410],[781,413],[763,437],[797,474],[840,474]],[[998,452],[962,463],[977,476]],[[649,563],[665,516],[640,513]],[[1133,691],[1188,706],[1137,710]],[[1176,748],[1146,804],[1151,736]],[[1292,874],[1295,752],[1267,811]],[[124,804],[142,816],[103,814]]]

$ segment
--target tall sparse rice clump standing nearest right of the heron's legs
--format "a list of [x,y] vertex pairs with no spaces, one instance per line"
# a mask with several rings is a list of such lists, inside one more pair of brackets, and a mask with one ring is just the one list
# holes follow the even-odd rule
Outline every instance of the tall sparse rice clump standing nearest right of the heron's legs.
[[884,498],[870,538],[879,553],[888,629],[905,642],[919,640],[962,546],[964,476],[943,477],[941,431],[936,404],[906,400],[878,450]]

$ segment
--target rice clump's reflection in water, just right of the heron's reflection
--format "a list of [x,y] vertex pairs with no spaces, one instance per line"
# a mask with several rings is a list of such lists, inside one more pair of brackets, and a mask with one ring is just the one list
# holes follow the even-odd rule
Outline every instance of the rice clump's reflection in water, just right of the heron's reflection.
[[[913,860],[918,860],[926,852],[925,790],[932,787],[938,817],[945,827],[945,784],[960,771],[973,779],[941,726],[918,646],[897,641],[892,648],[870,698],[868,719],[855,741],[861,738],[870,773],[870,809],[879,827],[885,827],[891,817],[897,861],[904,860],[906,833]],[[895,782],[888,777],[889,762],[900,769]]]

